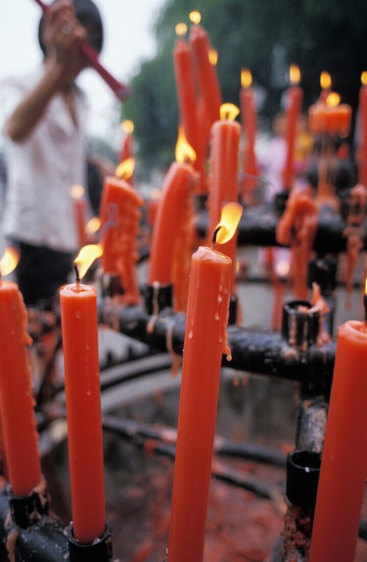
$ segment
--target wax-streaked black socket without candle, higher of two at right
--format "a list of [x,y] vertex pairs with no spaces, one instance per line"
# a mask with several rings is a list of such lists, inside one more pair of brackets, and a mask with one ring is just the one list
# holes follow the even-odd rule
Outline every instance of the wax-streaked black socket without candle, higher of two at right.
[[315,343],[319,333],[319,312],[302,312],[302,306],[311,308],[309,301],[289,301],[283,306],[282,336],[292,347],[308,347]]

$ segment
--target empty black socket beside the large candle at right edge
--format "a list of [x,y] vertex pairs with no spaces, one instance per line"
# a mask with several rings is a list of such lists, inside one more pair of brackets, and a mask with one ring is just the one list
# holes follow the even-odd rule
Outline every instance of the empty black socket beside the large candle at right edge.
[[320,466],[320,453],[296,450],[287,455],[286,496],[291,504],[315,509]]

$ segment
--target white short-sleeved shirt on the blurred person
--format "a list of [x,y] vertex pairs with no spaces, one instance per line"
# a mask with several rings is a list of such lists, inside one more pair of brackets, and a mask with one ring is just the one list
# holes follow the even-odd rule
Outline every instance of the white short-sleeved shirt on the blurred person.
[[[0,84],[3,126],[43,72],[42,66],[28,78]],[[87,178],[87,104],[80,89],[75,96],[75,116],[77,126],[62,95],[55,94],[24,141],[6,138],[6,237],[70,253],[78,247],[70,189],[75,184],[85,187]]]

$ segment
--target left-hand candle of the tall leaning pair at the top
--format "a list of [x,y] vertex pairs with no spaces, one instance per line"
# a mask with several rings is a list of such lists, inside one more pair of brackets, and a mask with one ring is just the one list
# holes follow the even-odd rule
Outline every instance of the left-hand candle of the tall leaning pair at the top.
[[[176,33],[186,33],[185,24],[176,25]],[[188,143],[191,144],[196,160],[193,162],[194,169],[200,174],[198,182],[198,193],[206,193],[206,152],[207,144],[205,131],[200,126],[198,116],[199,107],[196,99],[196,85],[193,74],[190,48],[184,39],[176,41],[173,49],[173,61],[175,68],[176,90],[178,96],[180,123],[185,132]]]

